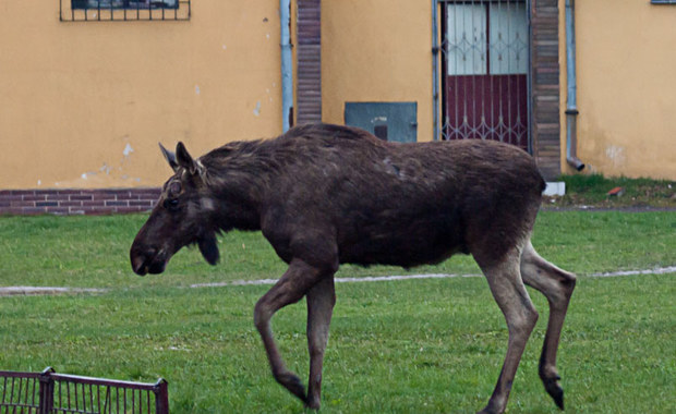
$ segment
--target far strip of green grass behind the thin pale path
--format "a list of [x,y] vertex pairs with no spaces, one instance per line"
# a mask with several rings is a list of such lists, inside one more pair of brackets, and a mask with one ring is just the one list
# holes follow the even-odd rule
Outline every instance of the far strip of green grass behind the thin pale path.
[[[184,248],[161,276],[140,278],[129,248],[145,215],[101,217],[0,217],[0,285],[148,288],[280,276],[285,264],[259,232],[219,239],[221,260],[206,265]],[[676,211],[541,211],[533,245],[542,256],[580,275],[676,265]],[[409,273],[479,273],[471,257]],[[401,268],[343,266],[342,277],[402,275]]]

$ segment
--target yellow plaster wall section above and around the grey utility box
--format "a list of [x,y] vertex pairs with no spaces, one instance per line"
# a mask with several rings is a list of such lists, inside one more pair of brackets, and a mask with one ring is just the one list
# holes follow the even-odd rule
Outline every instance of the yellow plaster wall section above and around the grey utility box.
[[433,137],[432,4],[322,1],[322,117],[345,123],[346,101],[418,102],[418,141]]

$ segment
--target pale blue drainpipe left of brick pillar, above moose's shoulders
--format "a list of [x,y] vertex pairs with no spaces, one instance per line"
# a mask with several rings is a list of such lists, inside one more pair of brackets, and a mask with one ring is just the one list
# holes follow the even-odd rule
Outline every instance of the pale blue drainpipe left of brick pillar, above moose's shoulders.
[[290,14],[291,0],[279,0],[279,27],[281,32],[281,127],[289,131],[293,120],[293,65],[291,54]]

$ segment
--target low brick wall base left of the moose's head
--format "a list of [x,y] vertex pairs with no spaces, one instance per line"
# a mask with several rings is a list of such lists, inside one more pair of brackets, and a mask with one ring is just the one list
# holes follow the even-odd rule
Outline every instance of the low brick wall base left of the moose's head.
[[1,190],[0,215],[110,215],[147,211],[160,188]]

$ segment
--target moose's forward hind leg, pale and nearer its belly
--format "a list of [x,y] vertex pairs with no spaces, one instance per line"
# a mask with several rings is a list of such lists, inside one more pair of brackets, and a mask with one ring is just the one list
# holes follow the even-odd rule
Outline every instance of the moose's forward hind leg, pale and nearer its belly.
[[514,248],[502,260],[486,265],[481,257],[474,258],[483,270],[493,297],[507,321],[509,340],[507,354],[488,404],[480,413],[503,413],[507,406],[509,391],[526,349],[526,343],[538,321],[535,310],[519,271],[519,251]]

